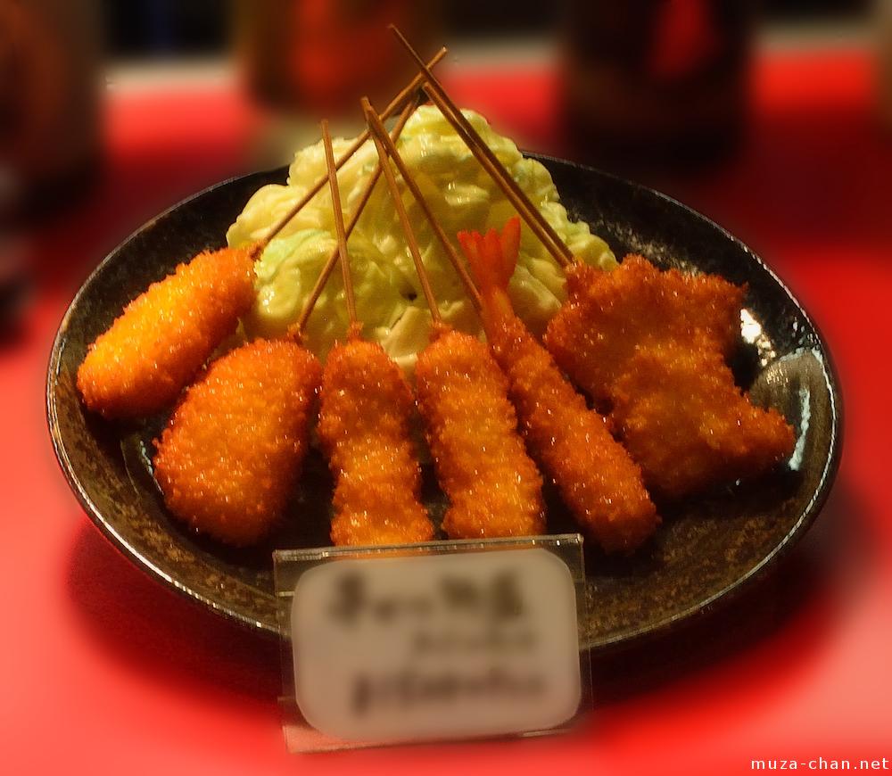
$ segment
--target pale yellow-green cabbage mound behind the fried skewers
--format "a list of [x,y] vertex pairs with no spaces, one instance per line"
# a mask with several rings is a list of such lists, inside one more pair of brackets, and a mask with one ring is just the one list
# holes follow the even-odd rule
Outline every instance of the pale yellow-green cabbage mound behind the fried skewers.
[[[592,235],[587,224],[568,218],[549,171],[540,162],[525,159],[516,145],[493,132],[482,116],[463,112],[574,254],[600,268],[614,268],[615,257],[607,244]],[[344,153],[351,142],[336,138],[335,157]],[[415,111],[403,128],[398,147],[457,248],[455,235],[459,230],[501,227],[515,214],[499,186],[436,107],[425,105]],[[339,172],[346,220],[355,210],[377,161],[375,146],[368,141]],[[325,174],[321,141],[298,151],[287,185],[260,188],[229,227],[228,244],[243,245],[267,235],[272,225]],[[464,288],[408,191],[403,192],[403,202],[415,227],[442,317],[464,331],[482,335]],[[326,186],[270,242],[257,261],[257,301],[244,319],[247,334],[281,335],[297,320],[319,271],[335,250],[334,235],[331,196]],[[417,351],[427,344],[431,317],[383,179],[378,181],[348,247],[364,334],[381,343],[392,358],[411,372]],[[544,330],[566,299],[563,273],[528,229],[523,230],[517,269],[508,293],[517,314],[536,334]],[[335,272],[310,316],[304,343],[324,358],[346,329],[343,284],[340,273]]]

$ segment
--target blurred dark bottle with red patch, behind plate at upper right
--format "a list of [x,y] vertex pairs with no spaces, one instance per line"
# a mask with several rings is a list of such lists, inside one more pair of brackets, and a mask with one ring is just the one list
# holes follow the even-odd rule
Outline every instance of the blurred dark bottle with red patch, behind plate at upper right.
[[732,151],[747,119],[754,6],[567,0],[563,87],[575,157],[634,172]]

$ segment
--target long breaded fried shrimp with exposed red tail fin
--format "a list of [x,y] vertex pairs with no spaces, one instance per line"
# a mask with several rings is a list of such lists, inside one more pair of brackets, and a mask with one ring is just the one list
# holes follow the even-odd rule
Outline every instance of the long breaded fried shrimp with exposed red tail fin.
[[508,300],[520,221],[502,235],[460,232],[459,242],[483,294],[483,326],[533,455],[558,486],[576,520],[607,551],[629,552],[659,524],[640,468],[587,408],[554,360],[516,317]]

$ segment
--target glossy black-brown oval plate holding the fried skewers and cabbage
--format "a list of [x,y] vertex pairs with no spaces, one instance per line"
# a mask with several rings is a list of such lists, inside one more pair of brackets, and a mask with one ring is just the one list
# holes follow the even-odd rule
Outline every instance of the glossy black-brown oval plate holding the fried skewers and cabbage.
[[[570,162],[542,158],[562,201],[617,256],[714,272],[748,284],[744,344],[733,367],[756,401],[797,428],[790,466],[757,483],[661,506],[665,522],[631,558],[586,550],[589,621],[582,642],[603,649],[681,623],[755,579],[812,523],[836,474],[840,401],[827,350],[789,290],[747,246],[679,202]],[[87,413],[75,376],[87,344],[124,305],[180,260],[223,244],[227,227],[260,187],[285,169],[255,173],[196,194],[153,219],[87,279],[62,319],[50,358],[46,407],[62,471],[87,514],[126,556],[175,590],[260,632],[277,633],[270,551],[327,545],[331,480],[310,456],[288,521],[266,545],[235,551],[171,520],[151,472],[152,439],[164,417],[108,423]],[[553,492],[549,530],[574,531]],[[425,500],[442,496],[425,472]],[[302,526],[302,527],[300,527]]]

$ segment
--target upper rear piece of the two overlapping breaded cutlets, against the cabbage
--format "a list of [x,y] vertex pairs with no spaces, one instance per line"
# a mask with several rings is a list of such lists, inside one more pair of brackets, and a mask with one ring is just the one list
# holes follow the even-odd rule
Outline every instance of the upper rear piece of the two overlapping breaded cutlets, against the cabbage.
[[702,343],[729,355],[740,339],[744,292],[721,277],[661,272],[640,256],[612,272],[577,263],[543,341],[575,384],[609,401],[609,386],[641,345]]

